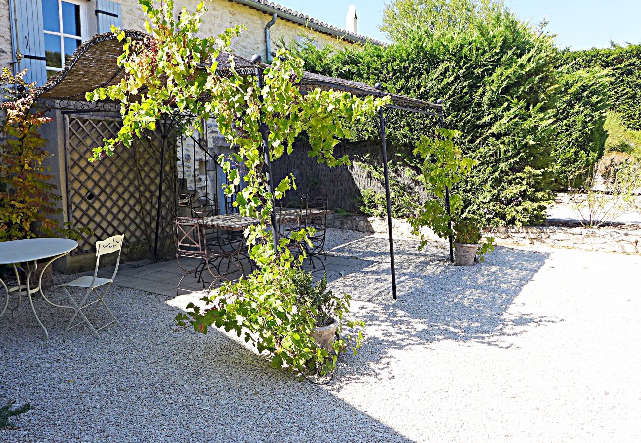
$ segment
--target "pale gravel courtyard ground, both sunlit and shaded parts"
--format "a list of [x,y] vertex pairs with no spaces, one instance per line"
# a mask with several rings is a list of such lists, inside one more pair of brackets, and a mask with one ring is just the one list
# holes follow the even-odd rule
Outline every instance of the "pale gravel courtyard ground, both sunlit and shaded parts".
[[367,334],[329,385],[219,330],[172,332],[200,294],[113,287],[123,327],[101,341],[63,339],[69,313],[42,300],[49,341],[28,303],[0,318],[0,401],[33,407],[0,441],[641,441],[641,257],[497,247],[460,268],[443,244],[397,241],[394,302],[387,239],[330,243],[360,259],[331,287],[353,294]]

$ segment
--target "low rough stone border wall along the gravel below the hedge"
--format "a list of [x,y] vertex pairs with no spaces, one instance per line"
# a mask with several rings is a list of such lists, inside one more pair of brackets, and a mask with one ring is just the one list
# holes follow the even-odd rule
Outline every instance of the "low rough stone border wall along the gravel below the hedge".
[[[387,234],[385,218],[367,217],[358,214],[328,216],[327,225],[335,229],[356,230],[372,234]],[[412,234],[412,227],[403,218],[392,219],[394,238],[418,239]],[[423,229],[428,239],[438,238],[432,230]],[[557,248],[578,248],[603,252],[622,252],[641,255],[641,227],[624,229],[617,227],[600,227],[586,229],[581,226],[528,226],[499,227],[490,232],[497,245],[545,245]]]

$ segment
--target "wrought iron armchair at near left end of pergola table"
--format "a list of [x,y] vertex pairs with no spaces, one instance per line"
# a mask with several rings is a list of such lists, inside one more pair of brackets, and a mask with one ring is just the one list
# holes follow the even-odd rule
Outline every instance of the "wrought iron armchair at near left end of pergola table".
[[[205,280],[203,278],[204,271],[207,271],[212,277],[207,293],[211,291],[213,284],[219,280],[229,280],[221,273],[220,264],[222,260],[229,259],[230,261],[237,262],[237,266],[242,272],[242,266],[238,263],[238,259],[234,260],[235,251],[226,251],[212,247],[212,242],[208,241],[205,233],[205,223],[202,217],[176,217],[176,261],[181,270],[185,271],[185,275],[180,278],[178,287],[176,288],[176,295],[179,294],[180,285],[188,275],[194,275],[197,282],[202,282],[203,288]],[[236,252],[237,254],[237,252]],[[195,268],[185,268],[184,261],[181,259],[196,259],[198,264]],[[215,270],[215,272],[214,272]],[[229,271],[229,266],[228,266]]]

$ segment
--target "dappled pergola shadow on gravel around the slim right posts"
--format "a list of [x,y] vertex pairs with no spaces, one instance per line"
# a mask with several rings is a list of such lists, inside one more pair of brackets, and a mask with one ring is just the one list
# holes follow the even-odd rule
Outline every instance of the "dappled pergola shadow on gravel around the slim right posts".
[[[406,242],[405,250],[397,255],[397,301],[392,300],[388,263],[366,268],[359,278],[348,276],[340,282],[339,289],[348,293],[358,287],[355,298],[367,302],[359,317],[381,331],[369,334],[363,344],[370,348],[367,354],[372,358],[367,375],[384,376],[379,364],[388,358],[390,350],[429,346],[442,340],[508,349],[513,344],[506,338],[533,326],[562,321],[513,305],[550,254],[497,246],[485,262],[464,268],[449,263],[446,246],[408,252],[414,247],[412,243],[418,244]],[[360,371],[354,381],[365,375]],[[345,378],[351,376],[346,374]]]

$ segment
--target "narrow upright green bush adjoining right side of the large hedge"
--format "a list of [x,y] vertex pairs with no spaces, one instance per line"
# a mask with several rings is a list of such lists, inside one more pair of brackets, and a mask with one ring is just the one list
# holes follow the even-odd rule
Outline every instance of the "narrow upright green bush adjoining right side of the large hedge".
[[603,155],[608,138],[603,125],[610,108],[609,87],[608,71],[599,67],[573,70],[569,66],[560,70],[551,166],[559,188],[565,188],[568,177],[590,168]]

